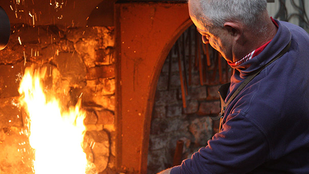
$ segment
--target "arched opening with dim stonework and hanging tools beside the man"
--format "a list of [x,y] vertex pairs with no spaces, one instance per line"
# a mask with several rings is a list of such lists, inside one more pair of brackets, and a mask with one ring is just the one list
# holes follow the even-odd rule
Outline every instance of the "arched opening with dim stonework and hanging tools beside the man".
[[150,128],[148,173],[191,158],[218,132],[219,86],[231,68],[220,53],[204,45],[192,25],[177,39],[158,79]]

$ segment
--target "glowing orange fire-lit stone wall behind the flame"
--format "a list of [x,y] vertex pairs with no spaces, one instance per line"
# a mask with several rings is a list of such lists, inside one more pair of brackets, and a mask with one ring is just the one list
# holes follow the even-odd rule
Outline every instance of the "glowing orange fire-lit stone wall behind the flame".
[[23,71],[30,64],[47,67],[47,89],[55,92],[65,106],[82,99],[87,128],[84,147],[95,166],[89,173],[113,173],[113,50],[112,27],[11,27],[9,44],[0,51],[0,173],[33,173],[33,150],[25,127],[27,114],[18,103],[17,91]]

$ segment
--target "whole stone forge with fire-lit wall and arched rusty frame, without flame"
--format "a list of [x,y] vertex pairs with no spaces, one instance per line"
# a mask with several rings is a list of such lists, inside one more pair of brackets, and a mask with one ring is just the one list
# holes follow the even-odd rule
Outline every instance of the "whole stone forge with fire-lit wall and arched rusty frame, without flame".
[[54,93],[62,109],[81,101],[87,174],[155,173],[179,164],[206,145],[200,136],[218,131],[210,117],[220,112],[217,89],[231,69],[202,44],[186,1],[0,6],[11,22],[0,51],[0,173],[35,173],[29,112],[18,93],[31,66],[46,69],[44,92]]

